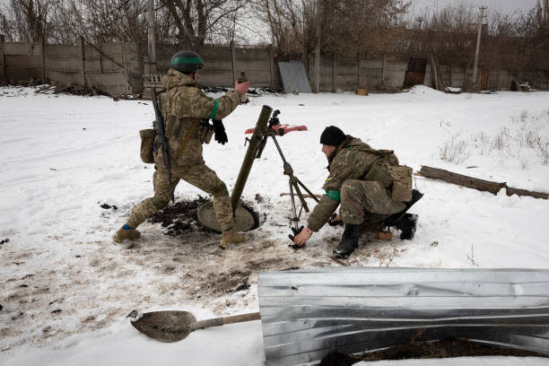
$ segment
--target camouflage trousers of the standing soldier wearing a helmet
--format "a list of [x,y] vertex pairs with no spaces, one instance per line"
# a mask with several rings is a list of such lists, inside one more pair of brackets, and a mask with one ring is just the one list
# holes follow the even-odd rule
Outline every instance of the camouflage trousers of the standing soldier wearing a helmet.
[[[171,148],[170,150],[175,150],[175,148]],[[171,161],[171,187],[175,189],[179,180],[182,179],[205,191],[205,193],[213,195],[215,217],[221,224],[222,231],[228,231],[234,226],[229,192],[222,180],[217,177],[215,171],[205,165],[205,161],[202,159],[202,148],[200,148],[199,156],[196,156],[196,150],[194,154],[182,154],[178,160]],[[154,213],[157,213],[170,203],[168,171],[164,167],[161,152],[154,154],[154,161],[154,169],[156,170],[153,175],[154,196],[145,199],[141,204],[136,205],[132,209],[132,213],[130,213],[126,222],[132,229],[135,229],[146,219],[153,216]]]

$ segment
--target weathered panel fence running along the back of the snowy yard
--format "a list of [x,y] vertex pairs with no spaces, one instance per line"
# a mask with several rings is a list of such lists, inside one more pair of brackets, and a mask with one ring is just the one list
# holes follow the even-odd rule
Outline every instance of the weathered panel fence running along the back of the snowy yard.
[[[158,44],[157,73],[165,73],[177,45]],[[281,88],[274,49],[271,47],[236,47],[207,45],[199,50],[205,59],[200,83],[205,86],[231,86],[241,71],[248,74],[252,87]],[[95,87],[111,95],[142,93],[150,73],[146,50],[134,43],[90,44],[80,39],[77,45],[5,43],[0,35],[0,83],[30,79],[49,79],[55,83],[72,83]],[[320,92],[338,90],[355,92],[391,92],[403,87],[408,61],[384,56],[374,59],[339,58],[322,55]],[[439,65],[439,79],[446,86],[465,87],[471,83],[473,70],[460,65]],[[309,57],[309,81],[315,84],[315,57]],[[549,73],[485,70],[480,73],[483,89],[510,90],[513,83],[530,82],[539,90],[549,89]],[[432,86],[431,64],[425,69],[424,85]]]

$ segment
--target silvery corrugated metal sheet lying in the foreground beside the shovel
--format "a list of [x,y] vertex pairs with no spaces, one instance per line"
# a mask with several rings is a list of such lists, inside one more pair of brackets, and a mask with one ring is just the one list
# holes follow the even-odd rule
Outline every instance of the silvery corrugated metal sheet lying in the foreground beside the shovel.
[[549,354],[549,270],[337,267],[259,275],[266,362],[444,337]]

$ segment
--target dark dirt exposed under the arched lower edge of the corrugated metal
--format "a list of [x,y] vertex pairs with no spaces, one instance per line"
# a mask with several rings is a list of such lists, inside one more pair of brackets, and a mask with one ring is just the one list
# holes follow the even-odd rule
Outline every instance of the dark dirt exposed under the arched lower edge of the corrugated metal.
[[351,366],[356,362],[381,360],[436,359],[449,357],[514,356],[547,357],[530,351],[503,348],[490,344],[478,344],[462,339],[445,338],[436,342],[401,344],[382,351],[360,356],[330,353],[320,362],[321,366]]

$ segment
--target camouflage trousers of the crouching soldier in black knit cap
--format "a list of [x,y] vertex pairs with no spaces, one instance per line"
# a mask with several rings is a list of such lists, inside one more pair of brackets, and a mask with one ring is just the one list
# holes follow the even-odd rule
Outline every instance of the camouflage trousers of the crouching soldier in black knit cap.
[[404,209],[405,204],[393,201],[378,181],[348,179],[341,187],[342,220],[360,224],[362,230],[382,230],[388,216]]

